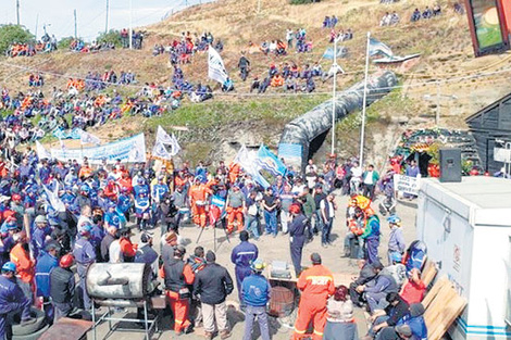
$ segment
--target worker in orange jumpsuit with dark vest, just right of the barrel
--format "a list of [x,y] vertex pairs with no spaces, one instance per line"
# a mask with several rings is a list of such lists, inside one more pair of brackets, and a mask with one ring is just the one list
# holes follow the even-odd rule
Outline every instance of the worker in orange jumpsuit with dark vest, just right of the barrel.
[[191,330],[191,323],[188,319],[191,293],[187,285],[194,284],[195,275],[190,265],[183,261],[186,249],[183,245],[176,247],[173,259],[164,262],[160,268],[160,277],[165,281],[166,297],[174,315],[176,336]]

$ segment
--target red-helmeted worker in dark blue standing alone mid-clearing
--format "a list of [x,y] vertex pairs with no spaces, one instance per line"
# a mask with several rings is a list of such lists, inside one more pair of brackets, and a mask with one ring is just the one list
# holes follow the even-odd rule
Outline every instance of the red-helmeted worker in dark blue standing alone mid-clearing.
[[291,250],[291,262],[295,267],[297,277],[301,273],[301,254],[303,244],[306,244],[306,228],[309,219],[301,212],[299,204],[291,204],[289,213],[292,215],[292,221],[289,225],[289,247]]

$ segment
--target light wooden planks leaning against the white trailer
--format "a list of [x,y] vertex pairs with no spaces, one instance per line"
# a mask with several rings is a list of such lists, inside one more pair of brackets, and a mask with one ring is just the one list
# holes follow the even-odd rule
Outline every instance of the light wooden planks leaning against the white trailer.
[[427,339],[440,340],[466,305],[447,277],[438,279],[422,301]]

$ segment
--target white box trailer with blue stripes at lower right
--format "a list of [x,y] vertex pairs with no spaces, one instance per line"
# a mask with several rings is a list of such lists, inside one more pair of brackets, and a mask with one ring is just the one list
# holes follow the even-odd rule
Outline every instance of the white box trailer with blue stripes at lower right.
[[453,340],[511,339],[511,180],[421,179],[417,238],[466,299]]

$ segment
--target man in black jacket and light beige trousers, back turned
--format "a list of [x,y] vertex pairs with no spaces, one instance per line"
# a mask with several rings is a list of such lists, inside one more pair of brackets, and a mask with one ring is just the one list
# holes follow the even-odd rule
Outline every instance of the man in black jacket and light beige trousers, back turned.
[[200,297],[205,339],[213,339],[217,328],[223,340],[232,336],[225,299],[233,292],[233,279],[226,268],[215,263],[216,255],[211,250],[205,254],[205,267],[197,274],[194,282],[194,293]]

